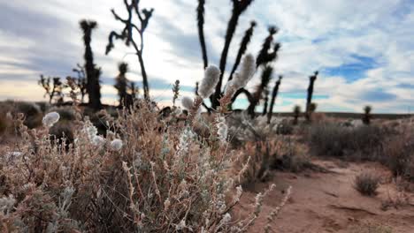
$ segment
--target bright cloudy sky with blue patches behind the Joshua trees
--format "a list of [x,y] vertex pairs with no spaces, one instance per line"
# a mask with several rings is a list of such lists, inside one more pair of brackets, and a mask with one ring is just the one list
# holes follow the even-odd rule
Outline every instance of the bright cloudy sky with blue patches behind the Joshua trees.
[[[219,64],[231,1],[207,0],[204,33],[211,64]],[[193,96],[203,79],[203,59],[196,27],[196,0],[142,0],[154,8],[144,34],[144,61],[151,98],[171,105],[173,82],[180,79],[180,96]],[[119,62],[131,68],[128,79],[141,81],[134,49],[122,41],[105,56],[112,30],[122,24],[111,9],[126,15],[122,0],[0,1],[0,101],[45,101],[40,74],[75,75],[83,64],[80,19],[93,19],[95,62],[102,67],[103,102],[116,103],[112,87]],[[230,71],[249,21],[257,27],[248,52],[257,55],[268,26],[280,31],[281,43],[274,63],[271,87],[284,79],[274,111],[304,106],[309,76],[320,71],[314,101],[320,111],[361,112],[372,105],[377,113],[414,112],[414,1],[412,0],[256,0],[242,14],[227,59]],[[260,71],[248,85],[259,82]],[[225,76],[226,79],[227,76]],[[142,85],[140,85],[142,86]],[[246,108],[241,96],[236,107]]]

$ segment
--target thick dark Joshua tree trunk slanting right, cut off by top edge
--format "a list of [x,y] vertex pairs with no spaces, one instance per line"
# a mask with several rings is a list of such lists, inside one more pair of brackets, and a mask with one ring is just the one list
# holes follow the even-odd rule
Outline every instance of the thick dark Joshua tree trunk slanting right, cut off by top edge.
[[232,42],[235,29],[237,27],[237,23],[239,21],[240,16],[246,9],[249,7],[249,5],[253,2],[253,0],[232,0],[233,3],[233,10],[232,10],[232,16],[230,20],[228,21],[227,30],[226,30],[226,38],[225,38],[225,45],[223,48],[223,51],[221,52],[220,57],[220,77],[219,77],[219,83],[216,86],[216,91],[214,94],[211,95],[211,107],[212,109],[217,109],[219,107],[219,98],[221,95],[221,85],[223,82],[223,75],[226,70],[226,60],[228,55],[228,49],[230,48],[230,44]]

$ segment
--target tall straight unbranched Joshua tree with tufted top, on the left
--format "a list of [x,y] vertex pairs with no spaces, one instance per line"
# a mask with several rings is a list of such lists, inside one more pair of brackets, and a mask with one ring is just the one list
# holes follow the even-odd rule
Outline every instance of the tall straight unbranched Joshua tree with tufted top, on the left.
[[94,64],[94,54],[90,42],[92,40],[92,31],[96,28],[95,21],[82,19],[80,20],[80,28],[83,31],[83,41],[85,43],[85,71],[87,77],[87,92],[89,96],[89,106],[92,109],[100,109],[101,104],[101,86],[99,85],[99,76],[101,69],[96,68]]

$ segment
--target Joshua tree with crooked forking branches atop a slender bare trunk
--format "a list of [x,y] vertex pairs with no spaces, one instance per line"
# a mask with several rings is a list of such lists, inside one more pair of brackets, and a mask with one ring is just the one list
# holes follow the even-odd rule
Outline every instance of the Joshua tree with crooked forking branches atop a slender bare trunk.
[[[144,91],[144,98],[145,100],[149,101],[149,83],[147,78],[147,71],[145,70],[145,65],[143,62],[143,34],[145,32],[145,29],[148,26],[149,19],[152,16],[152,12],[154,9],[142,9],[140,10],[140,0],[124,0],[124,4],[126,7],[126,11],[128,13],[128,16],[126,19],[121,18],[115,10],[111,10],[113,16],[116,20],[119,20],[121,23],[125,25],[125,27],[122,29],[120,33],[117,33],[115,31],[112,31],[109,35],[109,42],[106,46],[106,54],[108,54],[111,49],[113,49],[113,39],[120,39],[122,41],[125,41],[126,46],[130,46],[131,44],[134,47],[134,50],[136,52],[136,56],[138,56],[138,61],[141,66],[141,73],[142,73],[142,86]],[[140,26],[137,26],[133,21],[133,16],[136,16],[139,19]],[[135,41],[135,38],[133,36],[133,32],[136,32],[140,35],[140,44],[138,44]]]

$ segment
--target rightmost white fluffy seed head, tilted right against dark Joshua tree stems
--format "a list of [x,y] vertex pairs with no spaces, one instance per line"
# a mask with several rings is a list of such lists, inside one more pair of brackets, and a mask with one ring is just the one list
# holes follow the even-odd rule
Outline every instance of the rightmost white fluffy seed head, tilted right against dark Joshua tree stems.
[[256,72],[256,59],[253,55],[248,54],[243,57],[241,69],[238,73],[234,74],[234,81],[232,86],[235,90],[238,90],[246,86],[253,75]]

